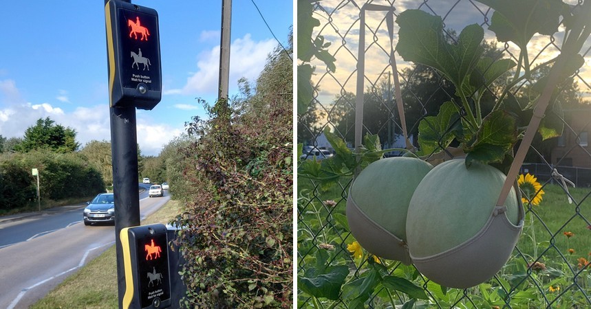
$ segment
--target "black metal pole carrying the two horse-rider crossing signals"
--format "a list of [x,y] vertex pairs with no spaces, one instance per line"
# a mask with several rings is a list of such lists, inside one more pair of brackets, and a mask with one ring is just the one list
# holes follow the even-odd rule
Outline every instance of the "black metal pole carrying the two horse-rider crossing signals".
[[[131,3],[129,0],[118,1]],[[107,2],[109,2],[109,0],[105,0],[105,5],[107,5]],[[109,71],[111,69],[115,68],[109,67]],[[113,192],[115,200],[118,303],[119,308],[123,308],[123,295],[125,295],[126,286],[123,251],[119,239],[119,232],[125,227],[135,227],[140,225],[136,108],[134,106],[109,107],[109,115],[111,118],[111,156],[113,163]]]

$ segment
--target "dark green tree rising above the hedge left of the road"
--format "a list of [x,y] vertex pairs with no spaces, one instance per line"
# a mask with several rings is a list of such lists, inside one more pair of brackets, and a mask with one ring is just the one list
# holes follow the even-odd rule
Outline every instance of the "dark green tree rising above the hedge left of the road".
[[54,152],[74,152],[80,148],[76,141],[76,130],[64,128],[60,124],[46,117],[39,118],[34,126],[25,130],[25,137],[21,144],[14,147],[18,152],[29,152],[34,149],[49,149]]

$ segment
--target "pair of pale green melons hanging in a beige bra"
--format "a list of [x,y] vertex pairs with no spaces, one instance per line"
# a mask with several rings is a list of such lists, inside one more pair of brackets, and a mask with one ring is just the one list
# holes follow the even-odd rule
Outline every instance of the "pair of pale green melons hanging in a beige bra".
[[[442,257],[454,260],[457,258],[454,254],[470,252],[474,259],[460,257],[462,265],[444,266],[462,268],[457,272],[462,275],[462,271],[471,269],[466,266],[466,260],[473,260],[474,267],[482,263],[473,249],[463,249],[466,244],[477,242],[475,238],[486,236],[485,229],[493,226],[492,214],[498,212],[495,204],[505,179],[502,172],[490,165],[473,163],[466,168],[464,159],[445,161],[435,168],[416,158],[381,159],[368,165],[352,184],[347,198],[347,220],[353,236],[369,253],[405,264],[420,260],[415,263],[419,271],[423,264],[437,265],[431,260],[442,260]],[[512,189],[499,217],[509,227],[517,226],[520,221],[519,205]],[[495,228],[503,228],[499,222]],[[479,248],[477,252],[486,250],[486,244],[478,245],[484,249]],[[511,246],[512,250],[515,242],[501,240],[499,245]],[[499,258],[506,262],[508,256]],[[438,272],[433,274],[429,267],[425,267],[429,275],[424,274],[444,286],[464,288],[466,284],[486,281],[496,271],[492,274],[484,271],[484,275],[472,271],[486,277],[460,283],[438,277]]]

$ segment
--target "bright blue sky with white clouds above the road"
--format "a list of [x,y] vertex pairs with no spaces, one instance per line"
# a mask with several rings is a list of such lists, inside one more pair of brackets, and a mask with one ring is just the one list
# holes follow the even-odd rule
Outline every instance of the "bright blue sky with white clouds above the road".
[[[137,110],[142,155],[206,117],[196,98],[217,99],[222,1],[136,0],[158,11],[162,100]],[[3,1],[0,10],[0,135],[23,137],[39,118],[74,128],[85,146],[111,139],[103,0]],[[254,0],[281,44],[288,43],[293,1]],[[254,83],[278,45],[252,0],[232,3],[230,98],[237,80]]]

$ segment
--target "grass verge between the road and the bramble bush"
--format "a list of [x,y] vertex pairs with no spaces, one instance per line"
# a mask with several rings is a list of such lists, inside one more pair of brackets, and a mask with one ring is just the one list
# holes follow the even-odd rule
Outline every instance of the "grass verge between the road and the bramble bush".
[[[170,200],[142,225],[166,224],[182,212],[179,201]],[[30,308],[118,308],[115,246],[80,268]]]

